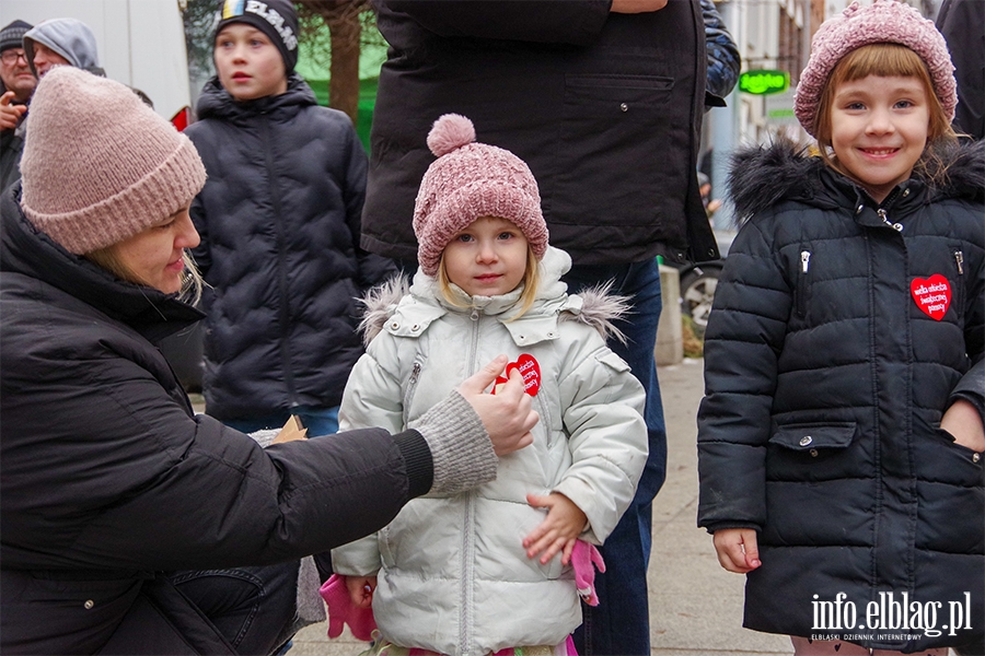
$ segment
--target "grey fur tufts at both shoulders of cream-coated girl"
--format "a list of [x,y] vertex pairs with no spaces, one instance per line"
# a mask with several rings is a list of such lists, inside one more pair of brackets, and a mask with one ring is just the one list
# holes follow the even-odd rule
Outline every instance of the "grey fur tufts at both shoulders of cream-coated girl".
[[[611,294],[612,281],[587,288],[577,295],[568,296],[568,303],[559,314],[558,320],[580,321],[594,328],[606,341],[610,338],[626,343],[626,336],[616,327],[615,321],[631,312],[628,296]],[[359,300],[366,307],[359,332],[364,345],[369,345],[383,330],[383,325],[393,315],[401,300],[410,293],[410,283],[406,276],[395,276],[371,290]],[[522,320],[522,317],[521,319]]]

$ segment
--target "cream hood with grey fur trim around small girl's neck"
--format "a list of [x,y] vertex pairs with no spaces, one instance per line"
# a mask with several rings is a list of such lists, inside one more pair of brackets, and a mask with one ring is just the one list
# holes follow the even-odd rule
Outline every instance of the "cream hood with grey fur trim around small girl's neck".
[[[570,257],[563,250],[548,247],[547,254],[541,263],[542,282],[541,291],[534,306],[522,317],[510,320],[517,306],[520,294],[514,291],[503,296],[494,296],[490,300],[473,300],[462,292],[464,301],[471,301],[471,307],[484,308],[489,312],[495,307],[495,314],[501,315],[503,324],[509,328],[513,325],[530,320],[542,320],[545,317],[556,317],[558,321],[575,320],[594,328],[603,339],[615,338],[625,341],[625,336],[615,326],[614,321],[630,312],[629,298],[610,293],[612,283],[582,290],[577,295],[567,294],[567,285],[560,281],[560,277],[571,266]],[[457,289],[457,288],[455,288]],[[421,324],[441,317],[454,308],[443,301],[438,291],[438,281],[430,276],[418,271],[414,277],[414,284],[405,276],[397,276],[385,283],[370,290],[361,300],[366,307],[359,330],[362,333],[366,345],[387,326],[387,321],[398,311],[408,311],[414,305],[414,313]],[[511,331],[512,332],[512,331]]]

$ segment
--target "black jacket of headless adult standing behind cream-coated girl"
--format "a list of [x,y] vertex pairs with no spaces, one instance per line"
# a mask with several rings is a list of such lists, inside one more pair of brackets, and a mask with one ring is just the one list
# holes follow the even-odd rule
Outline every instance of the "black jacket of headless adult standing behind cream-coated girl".
[[528,163],[575,265],[718,257],[696,178],[705,99],[697,0],[375,0],[390,44],[373,112],[363,245],[416,260],[414,199],[454,112]]

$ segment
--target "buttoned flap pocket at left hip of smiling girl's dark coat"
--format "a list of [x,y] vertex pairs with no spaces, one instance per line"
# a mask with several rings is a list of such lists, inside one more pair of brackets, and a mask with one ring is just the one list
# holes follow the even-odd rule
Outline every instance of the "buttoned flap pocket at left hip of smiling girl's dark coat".
[[777,427],[766,452],[768,478],[830,480],[851,476],[853,464],[845,455],[856,432],[855,422]]

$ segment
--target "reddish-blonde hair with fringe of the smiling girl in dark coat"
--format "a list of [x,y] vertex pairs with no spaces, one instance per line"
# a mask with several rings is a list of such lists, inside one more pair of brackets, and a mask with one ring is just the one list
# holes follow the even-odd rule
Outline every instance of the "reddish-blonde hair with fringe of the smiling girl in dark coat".
[[846,175],[831,148],[831,113],[834,106],[834,96],[838,86],[845,82],[862,80],[869,75],[916,78],[924,85],[930,109],[930,124],[927,126],[927,147],[914,168],[928,181],[943,183],[947,167],[935,151],[937,147],[957,143],[958,136],[951,128],[947,113],[941,107],[940,98],[934,91],[927,65],[919,55],[900,44],[869,44],[848,52],[835,65],[821,92],[818,119],[814,126],[821,159],[838,173]]

